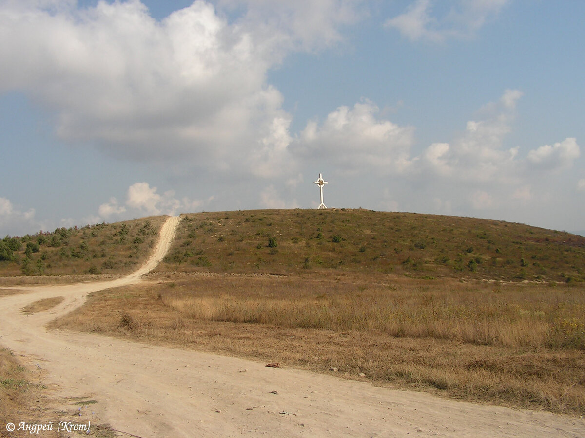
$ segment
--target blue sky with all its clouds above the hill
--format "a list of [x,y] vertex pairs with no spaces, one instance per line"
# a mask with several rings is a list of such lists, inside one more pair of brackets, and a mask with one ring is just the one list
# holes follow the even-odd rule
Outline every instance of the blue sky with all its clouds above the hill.
[[0,0],[0,237],[328,207],[585,230],[585,2]]

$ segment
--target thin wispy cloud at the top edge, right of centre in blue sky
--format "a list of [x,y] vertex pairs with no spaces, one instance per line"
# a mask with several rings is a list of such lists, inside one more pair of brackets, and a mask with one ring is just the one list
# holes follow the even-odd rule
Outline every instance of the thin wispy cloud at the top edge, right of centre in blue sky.
[[[508,0],[459,0],[448,2],[443,15],[433,14],[433,0],[417,0],[407,11],[388,19],[386,27],[397,29],[409,40],[442,42],[473,36],[486,21],[500,12]],[[444,5],[439,5],[444,6]]]

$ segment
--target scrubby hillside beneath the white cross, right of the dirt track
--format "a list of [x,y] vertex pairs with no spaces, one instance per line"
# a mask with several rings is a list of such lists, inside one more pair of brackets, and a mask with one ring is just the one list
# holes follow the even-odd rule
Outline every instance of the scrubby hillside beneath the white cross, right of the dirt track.
[[183,216],[159,271],[417,278],[584,279],[585,238],[523,224],[369,210],[257,210]]

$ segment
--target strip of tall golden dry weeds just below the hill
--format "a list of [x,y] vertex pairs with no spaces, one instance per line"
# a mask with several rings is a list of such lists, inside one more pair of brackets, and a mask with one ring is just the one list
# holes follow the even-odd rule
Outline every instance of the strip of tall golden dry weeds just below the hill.
[[201,279],[167,288],[160,297],[181,315],[207,321],[585,349],[585,296],[580,288],[435,283]]

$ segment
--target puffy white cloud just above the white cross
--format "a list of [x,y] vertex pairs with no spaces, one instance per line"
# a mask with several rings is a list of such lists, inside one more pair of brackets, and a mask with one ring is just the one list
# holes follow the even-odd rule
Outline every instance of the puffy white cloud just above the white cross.
[[414,128],[402,127],[376,117],[379,109],[369,100],[353,108],[340,106],[322,123],[309,121],[290,146],[298,157],[322,158],[342,171],[372,169],[380,173],[402,172],[411,165],[409,149]]

